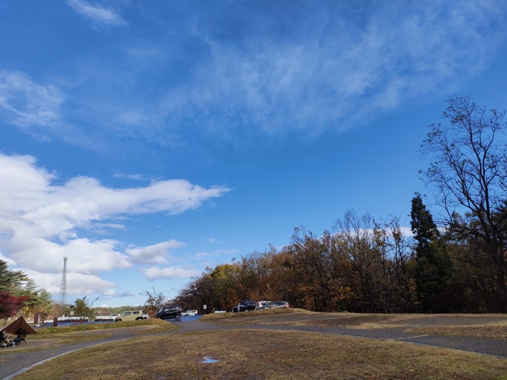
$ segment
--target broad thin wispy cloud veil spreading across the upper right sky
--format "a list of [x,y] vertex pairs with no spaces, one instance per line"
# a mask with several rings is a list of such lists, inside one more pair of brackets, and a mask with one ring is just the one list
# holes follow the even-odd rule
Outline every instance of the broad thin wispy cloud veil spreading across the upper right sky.
[[[197,24],[210,58],[195,82],[168,90],[161,108],[171,125],[193,119],[225,136],[251,126],[269,134],[344,130],[479,72],[505,38],[494,26],[505,7],[492,4],[378,3],[357,11],[360,22],[314,8],[291,37],[244,31],[232,43]],[[271,30],[279,19],[262,22],[260,30]]]

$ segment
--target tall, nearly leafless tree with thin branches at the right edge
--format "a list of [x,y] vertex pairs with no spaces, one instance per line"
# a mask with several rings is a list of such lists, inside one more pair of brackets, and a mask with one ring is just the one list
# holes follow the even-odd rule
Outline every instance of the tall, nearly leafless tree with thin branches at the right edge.
[[469,97],[448,100],[445,125],[432,124],[421,145],[431,157],[422,172],[443,207],[449,231],[482,242],[493,263],[496,311],[507,311],[505,225],[507,148],[504,112],[486,110]]

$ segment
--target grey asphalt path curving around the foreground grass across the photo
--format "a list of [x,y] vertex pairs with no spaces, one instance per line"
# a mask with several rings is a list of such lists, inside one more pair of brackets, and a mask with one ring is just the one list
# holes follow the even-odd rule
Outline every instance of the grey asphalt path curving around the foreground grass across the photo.
[[[507,359],[507,340],[490,338],[472,338],[464,336],[441,336],[441,335],[420,335],[404,332],[405,328],[385,329],[353,329],[343,327],[316,327],[316,326],[283,326],[283,325],[247,325],[247,326],[218,326],[213,323],[199,322],[197,320],[176,322],[179,330],[162,332],[156,334],[144,334],[143,336],[165,335],[173,333],[185,333],[199,330],[229,330],[229,329],[270,329],[270,330],[296,330],[307,332],[319,332],[327,334],[358,336],[373,339],[392,339],[405,341],[412,344],[427,345],[433,347],[451,348],[461,351],[486,354],[502,359]],[[14,373],[29,367],[35,363],[53,358],[57,355],[70,351],[91,347],[97,344],[111,343],[122,339],[139,338],[134,330],[129,328],[111,329],[107,331],[111,336],[103,340],[94,340],[82,343],[62,345],[48,350],[25,352],[19,354],[0,355],[0,379],[10,379]],[[29,342],[28,342],[29,344]],[[7,360],[3,360],[7,359]]]

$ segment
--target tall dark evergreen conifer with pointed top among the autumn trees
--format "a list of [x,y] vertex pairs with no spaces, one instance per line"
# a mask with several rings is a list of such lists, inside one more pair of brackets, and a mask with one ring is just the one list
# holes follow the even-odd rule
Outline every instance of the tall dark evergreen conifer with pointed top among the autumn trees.
[[417,241],[415,280],[423,311],[445,311],[442,297],[452,277],[453,265],[431,213],[422,203],[420,194],[412,198],[410,226]]

